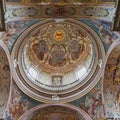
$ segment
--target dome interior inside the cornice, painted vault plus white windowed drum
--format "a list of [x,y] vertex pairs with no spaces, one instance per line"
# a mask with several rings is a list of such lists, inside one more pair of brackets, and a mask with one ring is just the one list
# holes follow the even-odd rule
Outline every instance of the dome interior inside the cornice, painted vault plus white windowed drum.
[[22,66],[32,81],[64,86],[82,81],[89,74],[95,59],[93,51],[90,37],[79,26],[51,22],[40,26],[28,38]]

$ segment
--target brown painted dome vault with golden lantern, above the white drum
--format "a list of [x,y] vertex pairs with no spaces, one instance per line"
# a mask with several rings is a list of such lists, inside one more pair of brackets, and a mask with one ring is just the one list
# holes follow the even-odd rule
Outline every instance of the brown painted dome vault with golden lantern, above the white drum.
[[82,29],[68,23],[41,26],[26,44],[26,54],[35,66],[50,74],[66,74],[85,64],[93,51]]

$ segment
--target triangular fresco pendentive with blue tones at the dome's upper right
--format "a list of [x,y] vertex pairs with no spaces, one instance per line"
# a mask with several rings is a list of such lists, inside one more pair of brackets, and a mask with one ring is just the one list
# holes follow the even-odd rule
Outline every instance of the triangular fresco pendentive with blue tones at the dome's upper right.
[[92,29],[94,29],[98,35],[101,37],[102,42],[104,44],[104,48],[106,52],[108,51],[111,44],[119,38],[119,33],[116,31],[112,31],[112,23],[104,20],[81,20],[83,23],[89,25]]

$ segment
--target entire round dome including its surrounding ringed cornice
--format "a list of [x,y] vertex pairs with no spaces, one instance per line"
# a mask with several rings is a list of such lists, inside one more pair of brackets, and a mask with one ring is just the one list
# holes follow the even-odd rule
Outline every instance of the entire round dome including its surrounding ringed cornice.
[[95,74],[100,73],[104,60],[100,51],[103,46],[99,36],[84,23],[43,20],[25,30],[19,39],[12,52],[14,63],[19,63],[15,80],[23,90],[27,87],[30,93],[34,91],[37,100],[41,96],[47,102],[60,96],[66,100],[96,83],[99,74]]

